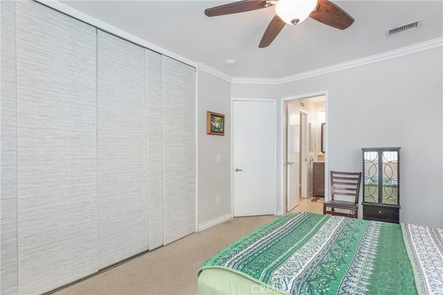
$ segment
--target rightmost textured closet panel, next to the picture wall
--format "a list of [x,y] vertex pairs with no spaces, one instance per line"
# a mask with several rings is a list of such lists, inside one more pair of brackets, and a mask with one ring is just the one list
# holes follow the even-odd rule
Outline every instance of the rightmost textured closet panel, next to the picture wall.
[[195,68],[162,56],[163,231],[195,232]]

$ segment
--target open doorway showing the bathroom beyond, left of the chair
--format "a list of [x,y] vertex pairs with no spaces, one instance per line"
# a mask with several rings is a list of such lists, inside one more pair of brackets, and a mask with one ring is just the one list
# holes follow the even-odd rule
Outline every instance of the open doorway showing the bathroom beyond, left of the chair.
[[[298,206],[300,199],[326,195],[326,95],[283,100],[283,207],[285,213]],[[323,130],[323,132],[322,132]],[[322,137],[323,136],[323,137]],[[322,165],[322,177],[316,167]],[[318,190],[319,181],[323,191]]]

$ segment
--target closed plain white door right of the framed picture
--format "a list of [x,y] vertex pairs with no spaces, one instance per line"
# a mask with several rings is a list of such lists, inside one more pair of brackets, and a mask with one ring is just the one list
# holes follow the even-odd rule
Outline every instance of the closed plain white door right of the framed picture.
[[234,216],[275,214],[275,102],[233,102]]

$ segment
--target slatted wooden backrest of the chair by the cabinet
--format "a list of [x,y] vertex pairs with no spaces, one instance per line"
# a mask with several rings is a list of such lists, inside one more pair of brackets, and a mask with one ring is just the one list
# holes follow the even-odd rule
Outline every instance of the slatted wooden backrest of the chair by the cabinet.
[[360,182],[361,172],[331,171],[331,198],[343,196],[341,200],[359,204]]

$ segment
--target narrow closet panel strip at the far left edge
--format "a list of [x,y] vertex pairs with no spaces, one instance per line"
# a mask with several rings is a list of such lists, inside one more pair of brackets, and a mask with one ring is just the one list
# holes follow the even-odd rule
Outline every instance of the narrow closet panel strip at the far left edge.
[[17,294],[17,87],[15,2],[1,6],[0,294]]

